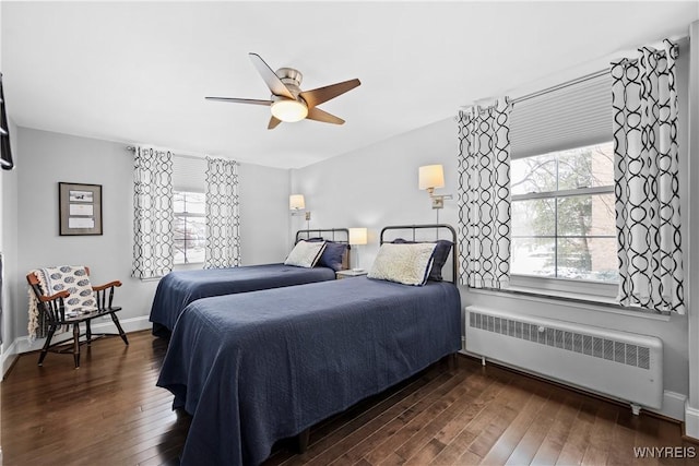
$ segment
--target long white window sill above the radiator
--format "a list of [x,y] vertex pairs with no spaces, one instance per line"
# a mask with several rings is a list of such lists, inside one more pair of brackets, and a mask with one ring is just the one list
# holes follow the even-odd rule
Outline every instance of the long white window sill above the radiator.
[[639,319],[651,319],[655,321],[670,322],[670,313],[657,313],[643,308],[629,308],[615,302],[613,298],[591,296],[585,294],[577,294],[570,291],[546,290],[543,292],[537,288],[528,288],[522,286],[510,286],[507,289],[496,288],[469,288],[469,292],[477,295],[511,295],[517,299],[537,302],[565,302],[571,308],[592,310],[597,312],[612,312],[620,315],[628,315]]

